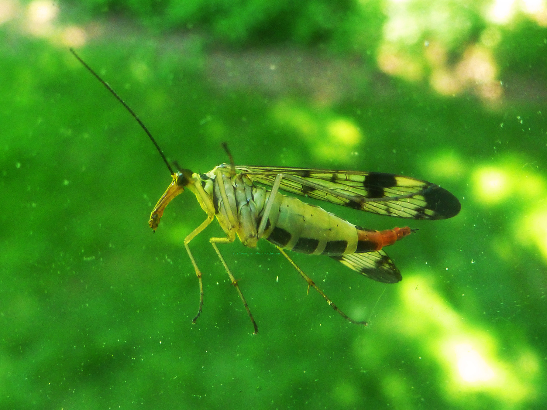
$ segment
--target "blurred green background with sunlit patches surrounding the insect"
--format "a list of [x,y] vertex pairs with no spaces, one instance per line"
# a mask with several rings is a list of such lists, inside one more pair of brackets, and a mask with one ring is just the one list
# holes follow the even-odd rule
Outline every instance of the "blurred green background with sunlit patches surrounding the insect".
[[[547,407],[545,1],[0,0],[0,408]],[[445,221],[324,208],[371,229],[403,282],[220,245],[170,160],[412,175]],[[275,250],[267,242],[260,251]]]

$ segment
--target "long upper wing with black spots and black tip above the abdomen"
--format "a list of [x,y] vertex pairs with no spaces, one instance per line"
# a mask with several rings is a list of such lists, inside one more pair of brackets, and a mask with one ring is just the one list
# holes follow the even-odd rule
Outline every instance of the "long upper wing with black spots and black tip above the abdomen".
[[428,181],[381,172],[335,171],[312,168],[237,166],[253,181],[379,215],[411,219],[446,219],[461,204],[449,191]]

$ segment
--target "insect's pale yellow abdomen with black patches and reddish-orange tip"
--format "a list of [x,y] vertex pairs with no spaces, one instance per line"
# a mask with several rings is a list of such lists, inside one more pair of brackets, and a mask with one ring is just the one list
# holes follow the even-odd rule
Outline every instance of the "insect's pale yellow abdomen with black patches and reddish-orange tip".
[[322,208],[278,194],[264,238],[295,252],[344,255],[380,250],[410,233],[409,227],[366,230]]

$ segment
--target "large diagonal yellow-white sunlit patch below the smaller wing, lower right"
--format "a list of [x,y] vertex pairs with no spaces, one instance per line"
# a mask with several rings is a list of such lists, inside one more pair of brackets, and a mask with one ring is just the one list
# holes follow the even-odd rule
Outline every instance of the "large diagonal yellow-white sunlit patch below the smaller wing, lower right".
[[461,397],[481,391],[502,406],[534,395],[537,355],[525,343],[510,355],[501,351],[490,333],[462,319],[425,278],[406,276],[399,284],[401,319],[396,327],[401,334],[419,340],[423,354],[435,358],[444,369],[446,394]]

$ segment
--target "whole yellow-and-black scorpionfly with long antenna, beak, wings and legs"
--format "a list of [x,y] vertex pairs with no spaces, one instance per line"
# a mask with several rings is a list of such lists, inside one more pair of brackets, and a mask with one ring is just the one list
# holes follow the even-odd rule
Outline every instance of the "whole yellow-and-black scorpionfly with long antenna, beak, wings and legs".
[[[317,290],[327,303],[342,317],[356,321],[342,312],[292,259],[285,249],[305,254],[328,255],[364,276],[384,283],[401,280],[401,274],[393,261],[383,251],[399,239],[410,235],[409,227],[374,231],[356,226],[322,208],[282,195],[279,190],[307,196],[364,210],[379,215],[410,219],[446,219],[459,213],[461,205],[449,191],[427,181],[400,175],[331,171],[310,168],[235,166],[228,148],[230,164],[221,164],[205,174],[189,169],[174,172],[159,145],[131,108],[83,62],[75,57],[118,98],[142,126],[167,165],[172,182],[150,215],[149,225],[155,231],[167,204],[184,189],[192,191],[201,208],[207,214],[201,223],[184,239],[186,248],[200,286],[200,304],[196,319],[203,306],[201,271],[192,255],[189,243],[203,231],[214,218],[226,234],[210,238],[232,284],[251,318],[254,332],[258,332],[251,310],[243,297],[237,281],[218,250],[218,243],[231,243],[236,236],[249,248],[257,246],[259,239],[266,239],[282,253],[293,267]],[[269,187],[269,188],[266,188]],[[270,189],[271,187],[271,189]]]

